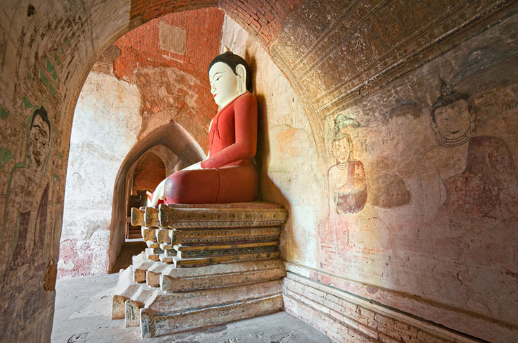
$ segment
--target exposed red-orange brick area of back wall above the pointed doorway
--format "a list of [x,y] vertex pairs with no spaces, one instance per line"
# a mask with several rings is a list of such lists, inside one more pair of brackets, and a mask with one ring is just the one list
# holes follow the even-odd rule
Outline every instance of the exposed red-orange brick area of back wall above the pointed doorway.
[[209,148],[207,132],[218,106],[209,92],[207,67],[219,53],[223,15],[217,8],[167,14],[117,39],[115,76],[142,93],[139,140],[175,121]]

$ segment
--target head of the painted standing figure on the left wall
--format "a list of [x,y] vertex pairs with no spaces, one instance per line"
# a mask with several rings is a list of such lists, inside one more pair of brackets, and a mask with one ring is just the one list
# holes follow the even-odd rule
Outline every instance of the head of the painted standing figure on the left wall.
[[29,129],[28,153],[36,166],[41,166],[50,151],[50,121],[43,106],[35,110]]

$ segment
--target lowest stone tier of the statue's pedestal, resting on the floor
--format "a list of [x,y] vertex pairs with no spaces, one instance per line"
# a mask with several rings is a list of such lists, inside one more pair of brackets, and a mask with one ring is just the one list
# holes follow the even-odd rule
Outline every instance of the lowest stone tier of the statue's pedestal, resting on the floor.
[[283,308],[280,281],[155,295],[140,310],[143,338],[243,320]]

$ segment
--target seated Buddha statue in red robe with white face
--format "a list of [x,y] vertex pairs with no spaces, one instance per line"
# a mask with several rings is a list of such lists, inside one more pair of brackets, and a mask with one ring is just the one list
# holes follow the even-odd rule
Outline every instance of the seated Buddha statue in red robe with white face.
[[257,100],[244,59],[226,51],[209,64],[209,83],[220,106],[209,127],[207,159],[175,172],[157,186],[148,206],[222,204],[258,198],[253,164],[257,146]]

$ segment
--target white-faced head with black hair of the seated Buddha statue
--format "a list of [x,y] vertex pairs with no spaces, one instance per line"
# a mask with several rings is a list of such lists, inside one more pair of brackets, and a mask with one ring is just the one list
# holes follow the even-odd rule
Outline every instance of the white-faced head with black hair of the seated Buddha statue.
[[252,90],[247,61],[230,51],[214,57],[208,73],[211,93],[219,106],[225,106],[238,95]]

